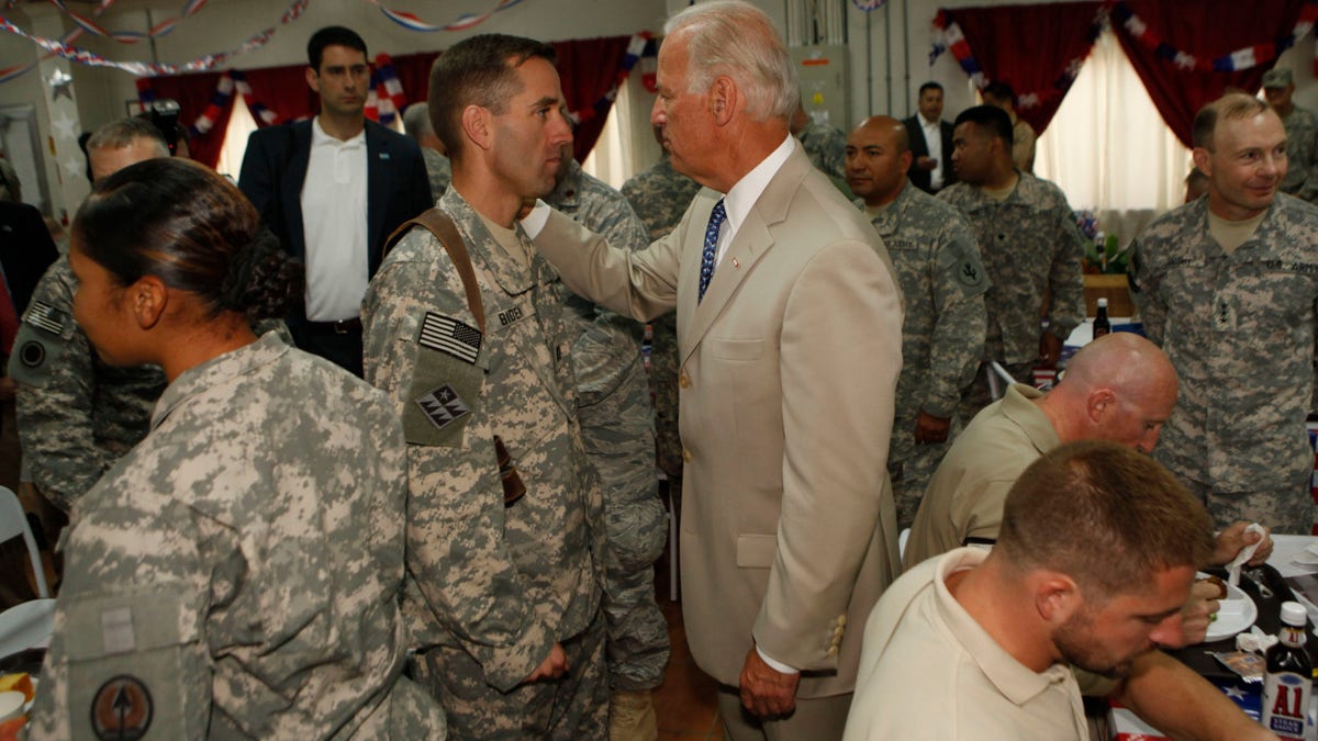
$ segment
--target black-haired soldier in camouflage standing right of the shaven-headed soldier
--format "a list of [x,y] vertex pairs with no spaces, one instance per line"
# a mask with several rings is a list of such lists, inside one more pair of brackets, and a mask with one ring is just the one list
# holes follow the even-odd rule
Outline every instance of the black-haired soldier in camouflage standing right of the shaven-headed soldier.
[[[1085,243],[1075,216],[1061,189],[1012,165],[1011,141],[1011,119],[1002,108],[962,111],[952,153],[961,182],[938,191],[965,214],[992,281],[985,294],[983,363],[962,393],[963,421],[988,405],[988,361],[1032,384],[1036,361],[1054,367],[1062,341],[1085,320]],[[1043,332],[1041,314],[1048,320]]]

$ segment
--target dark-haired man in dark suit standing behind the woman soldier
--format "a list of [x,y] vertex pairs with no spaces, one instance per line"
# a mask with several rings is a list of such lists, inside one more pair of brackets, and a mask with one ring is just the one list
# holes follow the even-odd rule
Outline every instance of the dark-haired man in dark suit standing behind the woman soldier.
[[239,187],[307,270],[298,347],[361,376],[361,298],[385,239],[435,204],[416,142],[366,120],[366,42],[327,26],[307,44],[310,121],[252,133]]

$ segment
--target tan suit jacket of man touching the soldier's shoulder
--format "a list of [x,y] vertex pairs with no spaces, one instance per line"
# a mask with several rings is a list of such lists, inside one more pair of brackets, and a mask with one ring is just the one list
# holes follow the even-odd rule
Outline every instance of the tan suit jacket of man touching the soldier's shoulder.
[[535,243],[569,287],[614,311],[677,310],[683,616],[696,662],[737,686],[754,634],[811,672],[799,696],[850,692],[865,620],[900,570],[886,469],[900,291],[874,227],[797,145],[697,306],[717,199],[702,190],[641,252],[559,214]]

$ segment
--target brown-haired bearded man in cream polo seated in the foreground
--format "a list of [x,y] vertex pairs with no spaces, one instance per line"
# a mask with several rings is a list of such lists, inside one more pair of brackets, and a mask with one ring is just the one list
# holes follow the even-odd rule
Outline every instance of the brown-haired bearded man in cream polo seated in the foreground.
[[954,550],[884,591],[845,740],[1087,738],[1073,668],[1177,738],[1272,738],[1155,650],[1211,551],[1203,506],[1151,458],[1053,450],[1011,488],[992,551]]

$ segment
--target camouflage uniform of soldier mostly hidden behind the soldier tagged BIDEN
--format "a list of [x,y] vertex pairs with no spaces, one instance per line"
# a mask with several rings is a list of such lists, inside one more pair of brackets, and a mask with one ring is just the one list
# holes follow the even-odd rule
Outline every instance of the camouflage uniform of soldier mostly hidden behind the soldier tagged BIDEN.
[[[618,191],[569,162],[546,203],[610,244],[643,249],[645,225]],[[572,345],[577,421],[587,459],[604,487],[609,535],[604,614],[609,683],[652,690],[668,663],[668,622],[655,603],[654,562],[668,534],[655,475],[654,407],[641,359],[641,324],[597,307],[559,283]]]

